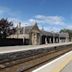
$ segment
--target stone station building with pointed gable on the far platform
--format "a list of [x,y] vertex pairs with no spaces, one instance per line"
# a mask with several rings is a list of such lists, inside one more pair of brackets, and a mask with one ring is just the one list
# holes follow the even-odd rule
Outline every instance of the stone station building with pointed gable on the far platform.
[[16,28],[16,33],[8,36],[7,38],[20,38],[23,42],[30,45],[48,44],[68,42],[68,33],[53,33],[40,30],[37,23],[34,22],[31,26],[21,27],[20,24]]

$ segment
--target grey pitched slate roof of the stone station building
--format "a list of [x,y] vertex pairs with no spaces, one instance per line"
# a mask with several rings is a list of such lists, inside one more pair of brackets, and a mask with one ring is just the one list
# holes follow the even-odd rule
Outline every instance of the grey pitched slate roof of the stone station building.
[[40,34],[41,35],[46,35],[46,36],[53,36],[53,37],[69,37],[69,35],[67,33],[55,33],[55,32],[48,32],[48,31],[45,31],[45,30],[40,30],[37,26],[37,23],[33,24],[33,25],[30,25],[30,26],[25,26],[25,27],[22,27],[21,28],[21,34],[23,34],[25,32],[25,34],[29,34],[31,32],[31,30],[33,28],[38,29],[40,31]]

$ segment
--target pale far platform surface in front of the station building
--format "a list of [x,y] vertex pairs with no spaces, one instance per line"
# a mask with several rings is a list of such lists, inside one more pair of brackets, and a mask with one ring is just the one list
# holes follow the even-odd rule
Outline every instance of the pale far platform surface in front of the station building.
[[6,46],[6,47],[0,47],[0,54],[17,52],[17,51],[33,50],[33,49],[39,49],[39,48],[50,48],[50,47],[69,45],[69,44],[72,44],[72,42],[44,44],[44,45],[28,45],[28,46]]

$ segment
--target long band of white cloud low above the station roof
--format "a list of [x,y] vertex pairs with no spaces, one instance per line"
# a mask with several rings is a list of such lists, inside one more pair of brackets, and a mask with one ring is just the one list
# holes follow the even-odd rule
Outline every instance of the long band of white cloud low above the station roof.
[[[44,20],[45,19],[45,20]],[[53,24],[49,24],[49,21],[45,22],[46,19],[50,19],[50,23]],[[19,24],[19,22],[21,22],[21,26],[27,26],[32,24],[33,21],[36,21],[38,23],[38,26],[40,29],[42,29],[42,27],[44,28],[44,30],[46,31],[54,31],[54,32],[58,32],[60,31],[60,29],[72,29],[72,24],[67,24],[64,22],[64,18],[63,17],[59,17],[59,16],[35,16],[35,18],[29,19],[27,21],[21,20],[19,18],[8,18],[9,21],[13,21],[14,26],[16,26],[17,24]],[[53,20],[56,20],[56,22],[59,23],[55,23]],[[55,23],[55,24],[54,24]]]

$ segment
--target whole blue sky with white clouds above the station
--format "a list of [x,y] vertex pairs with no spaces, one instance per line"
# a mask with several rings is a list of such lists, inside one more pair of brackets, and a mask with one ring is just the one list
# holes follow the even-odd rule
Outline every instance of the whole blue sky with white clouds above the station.
[[72,0],[0,0],[0,19],[7,18],[16,26],[31,25],[58,32],[72,29]]

